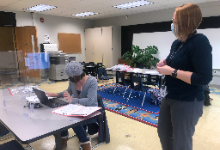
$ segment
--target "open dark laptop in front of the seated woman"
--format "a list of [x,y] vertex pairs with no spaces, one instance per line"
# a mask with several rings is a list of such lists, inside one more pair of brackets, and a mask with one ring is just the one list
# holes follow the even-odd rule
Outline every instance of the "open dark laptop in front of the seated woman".
[[69,102],[67,102],[64,98],[48,99],[44,91],[38,90],[36,88],[33,88],[33,91],[37,95],[40,102],[48,107],[56,108],[69,104]]

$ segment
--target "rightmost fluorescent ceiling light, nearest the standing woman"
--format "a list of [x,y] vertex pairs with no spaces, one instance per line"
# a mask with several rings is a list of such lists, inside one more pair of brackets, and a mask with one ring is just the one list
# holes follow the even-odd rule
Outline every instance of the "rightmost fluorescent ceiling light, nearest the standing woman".
[[143,5],[150,5],[150,4],[153,4],[153,3],[146,1],[146,0],[139,0],[139,1],[135,1],[135,2],[116,5],[113,7],[119,8],[119,9],[129,9],[129,8],[134,8],[134,7],[143,6]]

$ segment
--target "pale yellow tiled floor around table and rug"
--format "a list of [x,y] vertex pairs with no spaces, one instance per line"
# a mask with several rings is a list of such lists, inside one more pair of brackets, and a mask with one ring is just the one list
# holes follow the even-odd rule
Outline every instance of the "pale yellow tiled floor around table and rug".
[[[67,89],[68,82],[58,82],[55,84],[42,84],[40,88],[48,92],[60,92]],[[204,107],[203,116],[196,126],[193,137],[194,150],[219,150],[220,149],[220,95],[215,90],[211,94],[212,105]],[[110,128],[111,142],[102,144],[96,150],[161,150],[160,141],[157,135],[157,128],[140,123],[138,121],[123,117],[121,115],[108,112],[107,119]],[[74,134],[70,130],[71,134]],[[0,144],[3,141],[0,141]],[[92,138],[92,145],[97,142],[97,137]],[[52,150],[54,147],[54,137],[50,136],[31,143],[34,150]],[[68,141],[67,150],[78,150],[77,138]]]

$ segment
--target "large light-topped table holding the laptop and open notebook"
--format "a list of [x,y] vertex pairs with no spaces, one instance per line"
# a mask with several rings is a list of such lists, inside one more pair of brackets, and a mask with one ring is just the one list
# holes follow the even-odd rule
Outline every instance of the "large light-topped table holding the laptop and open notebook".
[[[47,106],[34,109],[31,113],[29,108],[24,108],[26,100],[21,99],[23,96],[10,96],[7,89],[0,90],[0,121],[22,144],[55,135],[56,147],[62,150],[61,131],[101,117],[100,112],[88,117],[66,117],[52,114],[51,111],[56,108]],[[3,105],[3,99],[6,100],[6,107]]]

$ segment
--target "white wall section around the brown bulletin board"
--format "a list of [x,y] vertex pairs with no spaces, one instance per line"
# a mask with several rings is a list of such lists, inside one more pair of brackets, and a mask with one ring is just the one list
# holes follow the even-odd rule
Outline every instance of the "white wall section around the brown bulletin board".
[[[34,14],[34,22],[31,13],[15,12],[17,26],[37,26],[38,46],[45,43],[44,34],[50,35],[50,43],[58,44],[58,33],[79,33],[81,34],[82,54],[70,54],[76,56],[77,61],[85,61],[85,37],[84,29],[93,27],[93,21],[81,20],[67,17],[49,16]],[[44,23],[40,18],[44,18]]]

